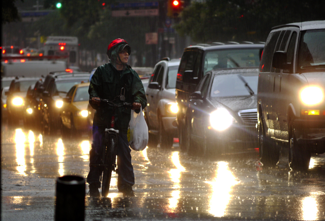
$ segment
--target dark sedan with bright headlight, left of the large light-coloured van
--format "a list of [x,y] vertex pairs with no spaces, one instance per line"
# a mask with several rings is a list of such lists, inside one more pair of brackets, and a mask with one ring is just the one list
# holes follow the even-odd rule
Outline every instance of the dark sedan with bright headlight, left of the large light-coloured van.
[[256,147],[257,81],[257,68],[212,70],[202,78],[185,116],[188,154]]

